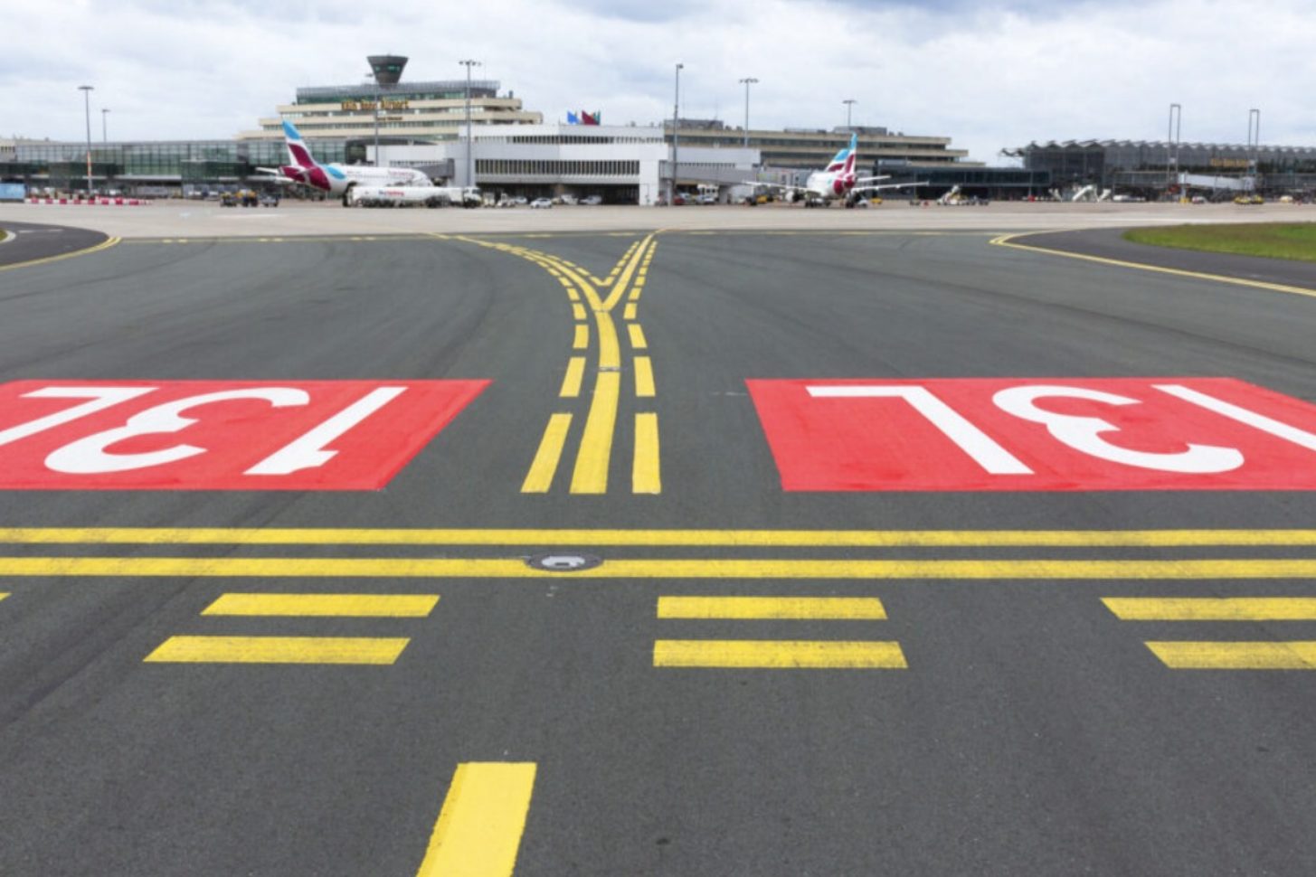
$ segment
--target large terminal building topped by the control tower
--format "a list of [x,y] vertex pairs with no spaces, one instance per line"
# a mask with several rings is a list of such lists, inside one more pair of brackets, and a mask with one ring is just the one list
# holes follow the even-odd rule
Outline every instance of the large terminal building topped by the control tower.
[[[424,170],[438,183],[517,196],[599,196],[655,204],[678,188],[745,180],[801,181],[858,135],[861,162],[912,172],[971,170],[949,137],[883,128],[745,131],[717,120],[659,125],[545,124],[500,83],[484,79],[403,82],[407,58],[372,55],[372,79],[296,89],[291,104],[233,139],[163,142],[0,141],[0,180],[59,191],[91,188],[171,196],[272,185],[261,167],[287,160],[283,121],[301,131],[322,163],[382,163]],[[467,118],[471,139],[467,143]],[[883,171],[890,172],[890,171]]]

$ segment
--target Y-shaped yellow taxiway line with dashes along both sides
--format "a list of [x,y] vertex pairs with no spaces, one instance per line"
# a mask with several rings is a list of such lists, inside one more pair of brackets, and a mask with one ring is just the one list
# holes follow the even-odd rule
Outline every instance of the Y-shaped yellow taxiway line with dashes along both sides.
[[[637,318],[640,296],[649,280],[649,267],[658,247],[655,234],[632,243],[604,277],[596,277],[574,262],[538,250],[475,238],[461,239],[526,259],[547,271],[566,291],[575,321],[572,351],[582,352],[574,354],[567,360],[562,387],[558,391],[559,398],[579,398],[582,393],[591,350],[590,314],[594,314],[597,337],[594,350],[597,364],[590,410],[584,418],[571,472],[570,490],[580,494],[607,493],[621,405],[621,376],[626,364],[613,320],[613,313],[622,301],[625,301],[624,321],[634,376],[634,396],[637,400],[650,400],[657,394],[653,362],[647,355],[649,342]],[[521,484],[522,493],[547,493],[551,489],[572,422],[574,415],[570,412],[557,412],[549,417],[530,469]],[[636,414],[632,490],[662,492],[658,414],[654,412]]]

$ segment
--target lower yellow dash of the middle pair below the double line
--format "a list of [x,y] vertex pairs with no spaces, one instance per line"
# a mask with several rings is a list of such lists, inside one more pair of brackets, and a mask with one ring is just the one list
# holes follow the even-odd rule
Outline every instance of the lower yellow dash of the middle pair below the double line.
[[725,669],[907,669],[894,642],[659,639],[654,667]]

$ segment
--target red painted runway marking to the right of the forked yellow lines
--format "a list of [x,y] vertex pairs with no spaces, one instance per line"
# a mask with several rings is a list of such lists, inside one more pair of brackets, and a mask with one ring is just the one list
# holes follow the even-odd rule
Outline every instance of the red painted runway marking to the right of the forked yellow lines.
[[747,384],[786,490],[1316,489],[1316,405],[1233,379]]

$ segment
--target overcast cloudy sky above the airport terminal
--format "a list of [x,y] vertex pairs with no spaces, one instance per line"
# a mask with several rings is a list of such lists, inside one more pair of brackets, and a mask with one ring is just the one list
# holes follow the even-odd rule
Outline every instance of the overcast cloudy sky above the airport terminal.
[[228,138],[299,85],[405,80],[483,62],[546,121],[672,110],[751,128],[845,124],[937,134],[970,158],[1073,138],[1316,146],[1316,0],[0,0],[0,138]]

